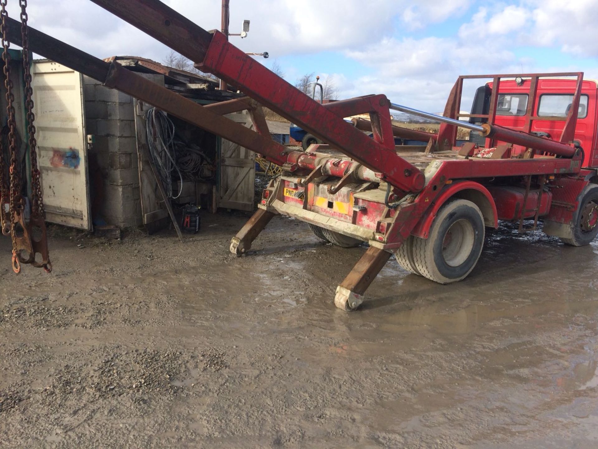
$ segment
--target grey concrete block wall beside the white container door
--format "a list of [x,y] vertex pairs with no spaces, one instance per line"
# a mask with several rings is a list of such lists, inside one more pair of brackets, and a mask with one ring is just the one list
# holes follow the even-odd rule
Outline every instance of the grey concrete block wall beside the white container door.
[[84,77],[90,190],[94,220],[119,227],[142,224],[135,111],[126,93]]

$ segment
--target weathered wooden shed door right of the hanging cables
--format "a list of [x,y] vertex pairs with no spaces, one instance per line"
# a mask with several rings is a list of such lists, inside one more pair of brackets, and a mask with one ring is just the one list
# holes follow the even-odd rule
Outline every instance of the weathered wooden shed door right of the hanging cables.
[[[228,114],[228,119],[253,128],[249,114]],[[254,210],[255,153],[221,139],[218,207]]]

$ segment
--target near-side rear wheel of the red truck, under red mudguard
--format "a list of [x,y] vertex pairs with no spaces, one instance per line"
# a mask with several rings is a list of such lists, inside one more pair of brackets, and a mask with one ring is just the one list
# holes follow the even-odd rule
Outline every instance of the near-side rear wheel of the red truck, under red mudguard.
[[484,217],[474,203],[447,202],[432,222],[428,238],[413,238],[415,268],[440,284],[462,280],[480,258],[485,230]]

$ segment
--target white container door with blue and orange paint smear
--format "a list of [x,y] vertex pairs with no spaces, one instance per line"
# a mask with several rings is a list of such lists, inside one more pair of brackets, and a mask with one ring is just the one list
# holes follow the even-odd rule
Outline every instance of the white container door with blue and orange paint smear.
[[83,75],[39,60],[32,78],[46,221],[91,230]]

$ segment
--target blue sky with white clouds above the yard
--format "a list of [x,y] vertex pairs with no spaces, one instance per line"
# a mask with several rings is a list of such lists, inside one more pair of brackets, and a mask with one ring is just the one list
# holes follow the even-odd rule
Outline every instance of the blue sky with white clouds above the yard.
[[[166,0],[219,29],[219,0]],[[16,3],[13,2],[13,5]],[[162,61],[169,50],[89,0],[29,0],[30,25],[97,57]],[[14,8],[14,6],[13,6]],[[8,14],[17,17],[8,6]],[[287,81],[331,76],[339,99],[384,93],[433,113],[458,75],[584,71],[598,78],[598,0],[230,0],[244,51],[268,51]],[[465,86],[462,109],[479,81]],[[471,101],[470,101],[471,103]]]

